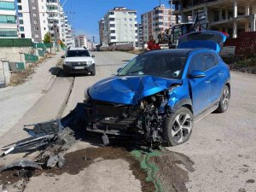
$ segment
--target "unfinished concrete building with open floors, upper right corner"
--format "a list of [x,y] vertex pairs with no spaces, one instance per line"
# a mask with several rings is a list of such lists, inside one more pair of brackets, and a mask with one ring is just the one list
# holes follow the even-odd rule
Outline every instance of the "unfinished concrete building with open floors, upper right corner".
[[228,32],[236,38],[240,32],[256,31],[255,0],[173,0],[174,15],[182,16],[187,22],[188,16],[195,18],[199,10],[207,13],[209,27],[212,30]]

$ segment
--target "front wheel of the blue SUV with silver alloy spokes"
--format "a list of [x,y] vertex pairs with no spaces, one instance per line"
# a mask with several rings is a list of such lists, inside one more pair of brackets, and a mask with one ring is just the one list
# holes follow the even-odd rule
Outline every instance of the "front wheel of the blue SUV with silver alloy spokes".
[[166,118],[165,131],[168,146],[176,146],[189,140],[194,125],[194,116],[189,108],[178,108]]

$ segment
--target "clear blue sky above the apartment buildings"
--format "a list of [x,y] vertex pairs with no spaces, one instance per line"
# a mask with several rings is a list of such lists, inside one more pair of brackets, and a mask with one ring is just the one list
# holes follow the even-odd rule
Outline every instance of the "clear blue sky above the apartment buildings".
[[[61,4],[65,0],[61,0]],[[154,9],[154,7],[165,4],[170,7],[168,0],[67,0],[64,10],[75,30],[75,35],[84,34],[95,42],[99,42],[98,21],[114,7],[125,7],[137,10],[137,21],[141,20],[141,15]]]

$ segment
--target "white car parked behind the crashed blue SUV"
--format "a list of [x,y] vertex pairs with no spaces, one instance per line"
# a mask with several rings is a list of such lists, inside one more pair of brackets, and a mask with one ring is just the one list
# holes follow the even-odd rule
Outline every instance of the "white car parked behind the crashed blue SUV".
[[69,48],[64,58],[63,70],[66,75],[71,73],[96,74],[94,55],[90,55],[86,48]]

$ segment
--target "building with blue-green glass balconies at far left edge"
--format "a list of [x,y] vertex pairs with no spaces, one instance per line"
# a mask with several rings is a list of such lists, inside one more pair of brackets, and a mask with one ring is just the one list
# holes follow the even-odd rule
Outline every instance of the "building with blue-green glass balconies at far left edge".
[[0,0],[0,38],[17,38],[15,0]]

